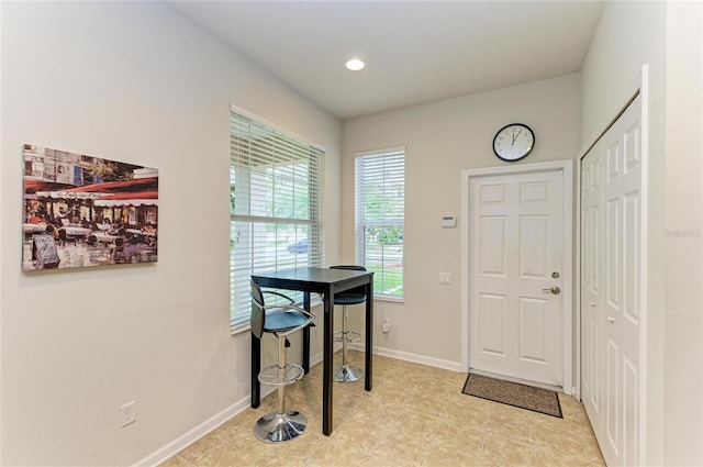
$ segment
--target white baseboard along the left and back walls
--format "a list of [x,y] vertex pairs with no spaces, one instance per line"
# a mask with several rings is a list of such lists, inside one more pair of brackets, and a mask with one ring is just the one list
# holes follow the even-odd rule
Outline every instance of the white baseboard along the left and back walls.
[[[349,348],[354,351],[364,352],[364,344],[358,344],[358,343],[349,344]],[[456,362],[448,362],[439,358],[431,358],[423,355],[410,354],[406,352],[398,352],[398,351],[392,351],[390,348],[383,348],[383,347],[375,347],[373,353],[376,355],[381,355],[389,358],[398,358],[400,360],[412,362],[421,365],[428,365],[428,366],[444,368],[453,371],[461,370],[461,364]],[[322,362],[322,353],[310,356],[311,366],[314,366],[320,362]],[[274,392],[275,390],[276,390],[275,387],[263,386],[261,398],[265,398],[266,396]],[[137,460],[132,465],[132,467],[158,466],[159,464],[170,459],[176,454],[180,453],[181,451],[183,451],[185,448],[187,448],[198,440],[202,438],[208,433],[212,432],[213,430],[222,425],[227,420],[245,411],[249,407],[249,404],[250,404],[250,399],[247,396],[246,398],[233,403],[232,405],[225,408],[219,413],[215,413],[210,419],[205,420],[204,422],[197,425],[192,430],[189,430],[188,432],[178,436],[176,440],[171,441],[164,447],[155,451],[154,453],[149,454],[143,459]]]

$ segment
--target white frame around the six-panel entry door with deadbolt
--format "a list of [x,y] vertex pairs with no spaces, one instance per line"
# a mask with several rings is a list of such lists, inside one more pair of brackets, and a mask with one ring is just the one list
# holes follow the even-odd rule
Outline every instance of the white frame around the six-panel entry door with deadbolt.
[[[479,177],[500,175],[534,174],[538,171],[561,170],[563,174],[563,285],[568,285],[563,290],[563,321],[562,321],[562,388],[568,394],[576,394],[577,388],[573,383],[574,365],[574,316],[573,316],[573,160],[554,160],[548,163],[518,164],[514,166],[487,167],[479,169],[467,169],[461,171],[461,213],[466,221],[461,223],[461,371],[469,371],[469,252],[471,235],[469,232],[469,220],[471,219],[471,208],[469,203],[471,180]],[[577,368],[578,369],[578,368]]]

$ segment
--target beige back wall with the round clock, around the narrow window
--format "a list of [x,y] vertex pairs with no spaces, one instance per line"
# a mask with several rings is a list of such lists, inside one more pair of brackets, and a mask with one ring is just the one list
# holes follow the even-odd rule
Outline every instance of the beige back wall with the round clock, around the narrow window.
[[[405,145],[405,298],[376,301],[375,345],[382,352],[458,369],[461,362],[461,170],[504,166],[493,136],[512,122],[535,132],[522,162],[570,159],[579,147],[579,78],[569,75],[346,121],[342,143],[342,252],[354,262],[354,154]],[[457,227],[443,229],[443,215]],[[466,258],[465,258],[466,259]],[[451,273],[451,285],[438,283]],[[350,315],[350,320],[361,313]],[[384,318],[391,332],[382,334]],[[362,321],[354,324],[362,329]]]

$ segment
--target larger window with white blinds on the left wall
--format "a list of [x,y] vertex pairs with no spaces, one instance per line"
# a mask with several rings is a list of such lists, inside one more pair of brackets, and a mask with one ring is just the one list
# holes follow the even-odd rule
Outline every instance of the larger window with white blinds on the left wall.
[[[232,330],[249,325],[253,273],[321,266],[322,155],[234,110],[230,119]],[[283,291],[297,302],[302,292]]]

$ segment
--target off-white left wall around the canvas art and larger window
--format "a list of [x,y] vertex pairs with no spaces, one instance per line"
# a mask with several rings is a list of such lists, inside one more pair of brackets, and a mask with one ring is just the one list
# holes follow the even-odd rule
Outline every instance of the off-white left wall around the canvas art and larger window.
[[[341,123],[160,3],[0,8],[1,463],[131,464],[248,401],[249,336],[228,332],[230,103],[327,147],[330,260]],[[158,168],[158,263],[22,274],[24,143]]]

